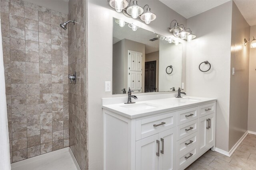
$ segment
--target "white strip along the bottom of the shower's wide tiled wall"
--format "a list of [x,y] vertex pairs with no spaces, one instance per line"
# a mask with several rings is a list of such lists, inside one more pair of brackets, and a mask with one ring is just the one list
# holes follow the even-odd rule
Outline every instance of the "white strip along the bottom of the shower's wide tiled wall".
[[63,149],[48,152],[46,154],[40,154],[40,155],[32,157],[32,158],[28,158],[28,159],[25,159],[25,160],[22,160],[22,161],[19,161],[19,162],[14,162],[14,163],[11,164],[11,166],[12,166],[12,168],[17,168],[19,166],[23,166],[23,165],[26,165],[26,164],[30,164],[32,162],[36,162],[38,160],[48,158],[50,156],[55,156],[57,154],[68,152],[68,150],[69,150],[69,147],[66,147],[66,148],[63,148]]

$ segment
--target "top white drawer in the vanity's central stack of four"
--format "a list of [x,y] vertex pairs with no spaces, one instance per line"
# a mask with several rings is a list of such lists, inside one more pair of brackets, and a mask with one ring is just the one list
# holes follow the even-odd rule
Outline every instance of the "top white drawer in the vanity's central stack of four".
[[198,107],[177,111],[177,124],[181,125],[198,118]]

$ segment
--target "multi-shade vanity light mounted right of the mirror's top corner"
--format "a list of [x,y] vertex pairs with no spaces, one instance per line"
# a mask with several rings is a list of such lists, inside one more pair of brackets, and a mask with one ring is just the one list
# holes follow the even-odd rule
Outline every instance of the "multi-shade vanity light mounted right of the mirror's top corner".
[[[172,27],[172,22],[175,21],[174,26]],[[190,42],[192,39],[196,38],[196,35],[192,34],[192,31],[189,29],[185,29],[183,24],[178,24],[176,20],[172,20],[170,23],[170,27],[168,27],[169,31],[173,33],[175,37],[180,37],[181,39],[186,39],[188,42]]]

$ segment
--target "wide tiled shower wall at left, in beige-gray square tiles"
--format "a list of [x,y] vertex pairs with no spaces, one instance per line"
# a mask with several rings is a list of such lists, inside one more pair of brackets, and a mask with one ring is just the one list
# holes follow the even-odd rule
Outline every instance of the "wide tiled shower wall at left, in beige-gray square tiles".
[[69,146],[67,15],[1,0],[11,162]]

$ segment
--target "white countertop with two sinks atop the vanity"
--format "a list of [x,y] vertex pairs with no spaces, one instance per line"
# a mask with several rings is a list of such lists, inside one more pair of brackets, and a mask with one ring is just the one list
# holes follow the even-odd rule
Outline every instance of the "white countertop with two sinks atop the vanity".
[[[108,105],[102,105],[103,109],[112,111],[114,113],[117,113],[119,115],[122,115],[124,117],[128,117],[130,119],[143,117],[147,115],[152,115],[164,111],[174,111],[177,109],[183,109],[186,107],[193,107],[203,105],[210,102],[215,102],[217,99],[215,98],[199,98],[199,97],[191,97],[186,96],[183,98],[165,98],[165,99],[158,99],[158,100],[146,100],[146,101],[140,101],[136,102],[136,100],[133,100],[136,102],[135,104],[108,104]],[[147,105],[148,109],[134,109],[133,107],[140,107]],[[130,107],[130,108],[128,108]],[[142,108],[141,107],[141,108]],[[154,107],[154,108],[150,108]]]

